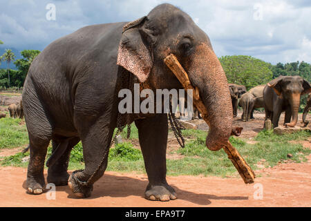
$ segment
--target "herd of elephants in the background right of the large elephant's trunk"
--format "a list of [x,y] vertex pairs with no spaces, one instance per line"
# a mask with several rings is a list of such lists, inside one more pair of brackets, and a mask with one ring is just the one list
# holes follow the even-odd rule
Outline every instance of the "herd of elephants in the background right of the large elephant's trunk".
[[267,84],[258,85],[246,91],[245,86],[229,84],[233,115],[237,117],[238,106],[243,108],[244,122],[254,119],[255,108],[265,108],[265,120],[270,119],[273,127],[279,126],[279,119],[285,111],[284,126],[294,127],[298,121],[301,95],[309,93],[303,111],[303,126],[308,125],[306,116],[311,108],[310,83],[300,76],[279,76]]

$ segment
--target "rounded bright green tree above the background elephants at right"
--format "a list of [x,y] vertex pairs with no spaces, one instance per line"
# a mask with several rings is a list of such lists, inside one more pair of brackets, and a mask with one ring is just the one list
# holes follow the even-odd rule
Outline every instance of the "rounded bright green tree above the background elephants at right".
[[244,85],[247,90],[267,84],[273,77],[271,64],[246,55],[223,56],[219,59],[229,83]]

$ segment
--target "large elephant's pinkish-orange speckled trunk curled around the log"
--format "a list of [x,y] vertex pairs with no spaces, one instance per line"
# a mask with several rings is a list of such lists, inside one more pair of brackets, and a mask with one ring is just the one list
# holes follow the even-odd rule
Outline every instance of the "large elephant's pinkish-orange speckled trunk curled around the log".
[[200,88],[200,97],[207,109],[205,122],[209,125],[206,146],[218,151],[225,146],[232,132],[232,101],[227,78],[211,46],[201,44],[192,55],[189,77]]

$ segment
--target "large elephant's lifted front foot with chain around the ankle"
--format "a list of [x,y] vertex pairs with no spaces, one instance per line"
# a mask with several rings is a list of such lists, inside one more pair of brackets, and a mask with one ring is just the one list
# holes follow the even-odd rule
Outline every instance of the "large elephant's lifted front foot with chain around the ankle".
[[77,198],[88,198],[91,196],[93,191],[93,184],[88,184],[87,186],[82,184],[77,179],[76,173],[70,175],[68,179],[68,186]]

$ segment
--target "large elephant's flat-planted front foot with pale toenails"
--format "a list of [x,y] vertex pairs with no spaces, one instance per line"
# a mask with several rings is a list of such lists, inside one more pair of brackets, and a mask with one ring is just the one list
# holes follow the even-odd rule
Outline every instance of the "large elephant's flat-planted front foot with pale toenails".
[[159,200],[159,201],[169,201],[175,200],[177,194],[175,190],[169,186],[169,184],[164,185],[150,185],[148,184],[146,191],[144,192],[144,198],[147,200]]

